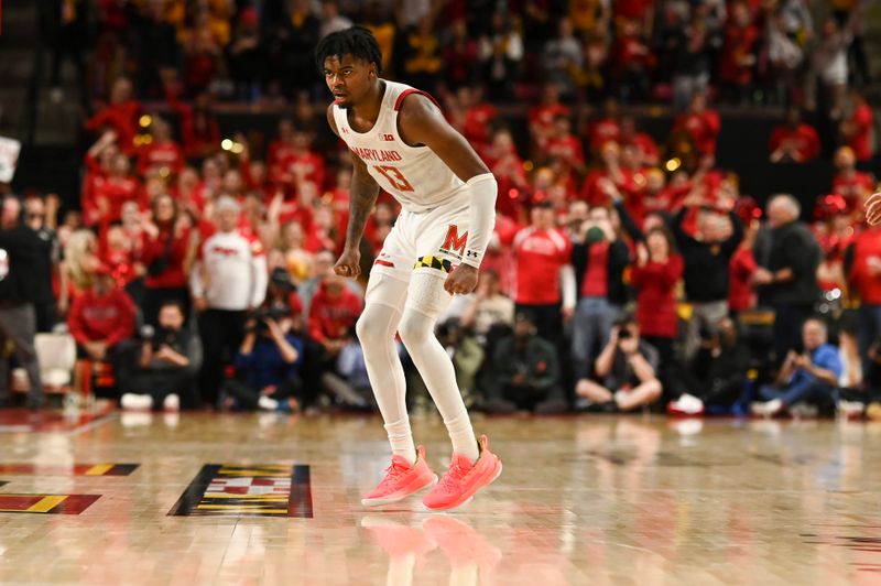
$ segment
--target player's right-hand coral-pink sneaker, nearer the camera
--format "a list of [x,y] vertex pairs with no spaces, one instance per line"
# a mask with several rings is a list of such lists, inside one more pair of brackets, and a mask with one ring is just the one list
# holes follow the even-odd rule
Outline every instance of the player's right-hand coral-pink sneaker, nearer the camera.
[[461,507],[475,492],[496,480],[502,474],[502,460],[489,451],[489,440],[480,436],[480,456],[471,462],[461,454],[453,454],[447,474],[434,489],[425,495],[422,503],[433,511],[447,511]]

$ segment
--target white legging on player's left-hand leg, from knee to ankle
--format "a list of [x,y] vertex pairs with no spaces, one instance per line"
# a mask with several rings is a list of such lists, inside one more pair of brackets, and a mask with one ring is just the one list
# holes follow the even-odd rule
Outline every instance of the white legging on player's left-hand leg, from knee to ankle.
[[[394,285],[392,280],[381,284]],[[405,286],[404,283],[401,285]],[[368,303],[358,319],[358,339],[365,352],[365,365],[377,398],[377,405],[385,422],[385,432],[392,454],[416,462],[416,446],[406,413],[406,379],[401,357],[394,345],[394,333],[401,312],[389,305]]]

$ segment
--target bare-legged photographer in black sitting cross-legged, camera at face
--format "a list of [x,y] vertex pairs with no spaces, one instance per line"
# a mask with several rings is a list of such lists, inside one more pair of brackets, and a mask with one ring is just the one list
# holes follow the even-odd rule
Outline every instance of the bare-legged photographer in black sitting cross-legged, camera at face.
[[612,327],[609,343],[594,366],[602,384],[581,379],[575,386],[578,408],[598,408],[605,412],[632,411],[650,405],[661,397],[661,381],[655,375],[659,356],[640,339],[640,327],[632,315]]

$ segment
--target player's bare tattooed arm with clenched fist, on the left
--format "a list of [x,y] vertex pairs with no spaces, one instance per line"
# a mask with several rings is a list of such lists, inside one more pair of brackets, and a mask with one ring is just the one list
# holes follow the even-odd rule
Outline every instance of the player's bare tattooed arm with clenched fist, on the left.
[[[339,135],[334,120],[334,106],[327,108],[327,123],[334,134]],[[352,174],[349,188],[349,225],[346,229],[346,246],[337,260],[334,271],[341,276],[356,278],[361,272],[361,237],[365,234],[367,218],[379,197],[379,184],[367,172],[367,165],[360,156],[351,153]]]

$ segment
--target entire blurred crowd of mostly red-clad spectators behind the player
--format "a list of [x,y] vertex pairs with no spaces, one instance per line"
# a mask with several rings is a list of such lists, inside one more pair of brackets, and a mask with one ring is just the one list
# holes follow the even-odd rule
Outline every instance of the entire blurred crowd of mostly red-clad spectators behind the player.
[[[243,133],[221,141],[211,113],[226,67],[239,72],[229,79],[240,98],[290,98],[285,84],[312,93],[315,40],[351,20],[370,24],[387,75],[439,93],[499,181],[478,290],[454,300],[437,332],[470,404],[695,413],[753,398],[773,414],[835,405],[841,388],[857,393],[842,403],[864,405],[881,390],[881,239],[861,221],[875,191],[873,111],[829,74],[813,87],[833,100],[830,133],[802,116],[822,95],[801,94],[804,62],[830,35],[856,55],[848,75],[862,75],[860,3],[817,35],[800,0],[597,0],[565,13],[525,1],[480,22],[465,2],[400,2],[395,18],[383,2],[349,4],[100,3],[104,58],[122,51],[134,82],[107,62],[109,101],[85,123],[94,143],[81,211],[58,217],[52,196],[25,207],[29,226],[56,242],[45,252],[57,303],[42,301],[39,326],[66,323],[84,361],[111,362],[123,404],[372,409],[354,335],[363,283],[330,270],[348,219],[347,154],[322,141],[324,112],[308,96],[265,145]],[[161,42],[167,51],[153,51]],[[138,53],[142,44],[151,51]],[[847,74],[847,58],[836,64]],[[662,95],[664,80],[682,106],[666,140],[619,111]],[[737,170],[716,166],[728,129],[709,96],[751,100],[771,83],[786,86],[792,107],[761,146],[769,160],[797,172],[835,152],[816,209],[785,194],[762,208],[740,193]],[[153,97],[173,116],[148,111],[140,98]],[[577,118],[583,98],[602,100],[601,111]],[[505,99],[531,104],[529,144],[518,146],[497,110]],[[365,274],[395,215],[382,195]],[[418,376],[399,351],[417,403]],[[765,382],[779,387],[760,392]]]

